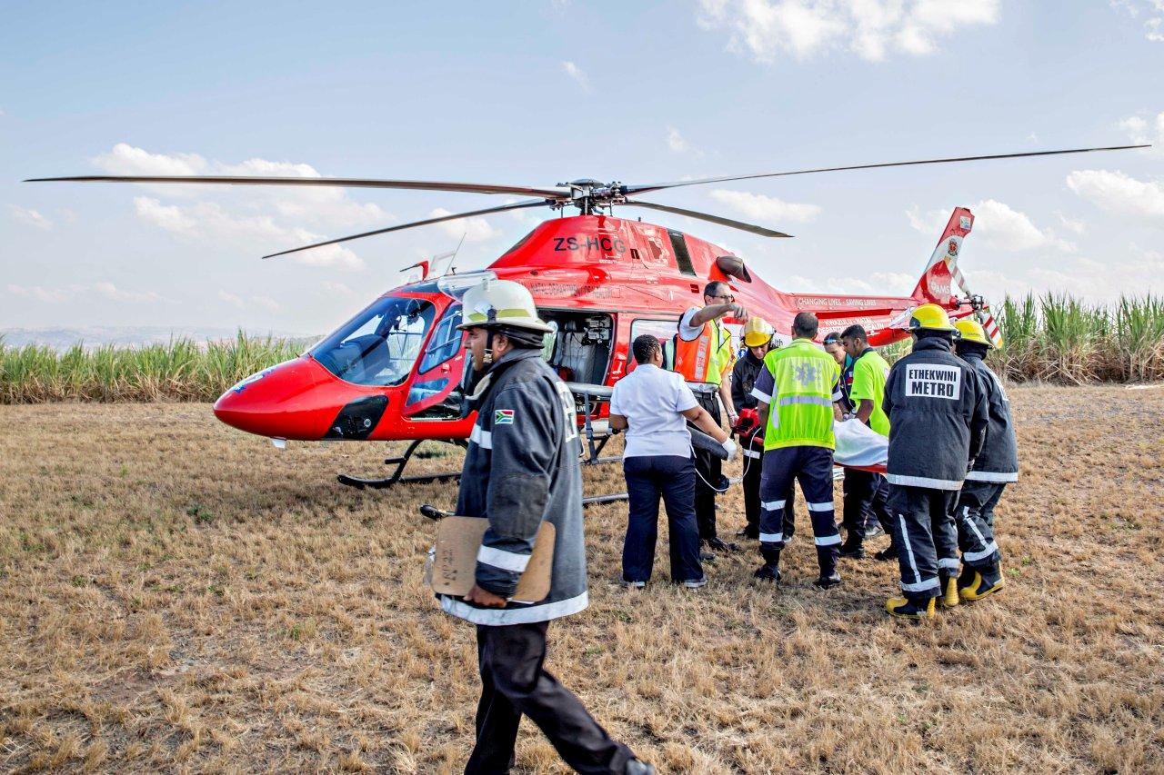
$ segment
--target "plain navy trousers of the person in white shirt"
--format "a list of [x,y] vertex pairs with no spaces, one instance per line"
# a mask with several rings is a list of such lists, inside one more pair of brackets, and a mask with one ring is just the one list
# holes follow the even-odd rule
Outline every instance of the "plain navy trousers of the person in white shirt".
[[695,462],[677,455],[645,455],[623,460],[630,518],[623,542],[623,581],[651,581],[659,540],[659,498],[667,507],[670,532],[670,578],[703,578],[700,529],[695,522]]

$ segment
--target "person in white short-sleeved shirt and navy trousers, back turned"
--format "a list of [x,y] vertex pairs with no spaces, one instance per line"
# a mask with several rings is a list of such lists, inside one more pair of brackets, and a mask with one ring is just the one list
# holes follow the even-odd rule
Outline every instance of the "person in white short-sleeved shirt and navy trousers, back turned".
[[663,371],[662,346],[650,334],[631,344],[638,364],[615,383],[610,427],[626,431],[623,472],[630,519],[623,543],[623,582],[641,588],[651,580],[659,536],[659,497],[667,507],[670,532],[670,577],[687,588],[708,583],[700,563],[700,531],[695,521],[695,461],[686,420],[723,445],[729,456],[736,445],[700,406],[682,376]]

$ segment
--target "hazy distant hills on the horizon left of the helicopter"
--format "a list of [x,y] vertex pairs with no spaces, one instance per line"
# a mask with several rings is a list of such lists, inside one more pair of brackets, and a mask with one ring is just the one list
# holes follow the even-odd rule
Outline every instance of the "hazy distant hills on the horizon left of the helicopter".
[[[318,335],[301,332],[282,330],[243,330],[249,337],[294,340],[313,342]],[[146,344],[165,344],[176,339],[189,339],[194,342],[214,342],[230,340],[239,335],[237,328],[200,327],[200,326],[79,326],[73,328],[0,328],[0,342],[7,347],[24,344],[42,344],[55,350],[66,350],[80,342],[85,349],[95,349],[106,344],[116,347],[142,347]]]

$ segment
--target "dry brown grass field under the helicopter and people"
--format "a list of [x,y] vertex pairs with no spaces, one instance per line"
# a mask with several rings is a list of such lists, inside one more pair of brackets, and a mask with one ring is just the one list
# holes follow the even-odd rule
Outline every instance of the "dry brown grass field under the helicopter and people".
[[[803,517],[776,591],[750,550],[702,590],[663,563],[631,592],[615,504],[588,512],[592,603],[551,628],[549,669],[661,772],[1164,772],[1164,389],[1012,394],[1001,596],[890,620],[890,564],[810,584]],[[0,769],[463,766],[474,634],[421,585],[416,509],[452,485],[356,492],[334,475],[384,446],[278,453],[196,404],[0,421]],[[733,489],[723,532],[741,510]],[[518,769],[563,769],[528,721]]]

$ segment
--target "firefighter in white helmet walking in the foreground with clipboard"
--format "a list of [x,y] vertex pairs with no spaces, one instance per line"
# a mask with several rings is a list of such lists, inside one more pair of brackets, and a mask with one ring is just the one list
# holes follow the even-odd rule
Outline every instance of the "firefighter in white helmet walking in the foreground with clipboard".
[[[464,599],[441,596],[445,611],[477,625],[482,694],[466,772],[509,772],[518,723],[528,716],[577,772],[653,773],[542,667],[549,620],[588,603],[574,397],[540,357],[551,328],[511,280],[469,289],[463,320],[477,420],[456,513],[489,520],[475,586]],[[549,596],[513,600],[542,520],[556,529]]]

